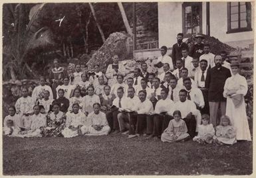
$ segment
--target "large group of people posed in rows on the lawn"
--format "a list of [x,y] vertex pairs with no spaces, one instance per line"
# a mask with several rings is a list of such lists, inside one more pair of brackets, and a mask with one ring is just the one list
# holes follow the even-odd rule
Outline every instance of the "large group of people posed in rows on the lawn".
[[[163,46],[162,56],[155,64],[156,73],[149,73],[148,64],[142,62],[126,81],[126,68],[118,62],[117,55],[105,74],[98,65],[93,67],[94,72],[88,73],[76,64],[76,71],[67,75],[58,60],[54,60],[55,67],[48,79],[51,87],[46,85],[45,77],[40,77],[40,85],[31,96],[28,89],[21,89],[22,97],[9,107],[9,115],[4,119],[5,135],[72,138],[122,133],[128,138],[146,136],[162,142],[193,139],[203,144],[251,140],[247,120],[247,125],[239,127],[233,119],[234,108],[239,112],[245,110],[242,99],[247,93],[246,80],[236,83],[238,78],[243,80],[238,74],[239,65],[231,63],[229,69],[223,69],[227,57],[223,52],[224,56],[211,58],[207,55],[207,44],[203,51],[199,58],[192,58],[188,49],[182,48],[182,58],[174,62],[170,56],[166,57],[167,48]],[[212,100],[210,93],[217,100]],[[238,93],[242,99],[237,107],[231,98]],[[222,109],[219,121],[217,112],[225,103],[223,97],[227,98],[230,111]],[[242,114],[246,116],[246,112]]]

